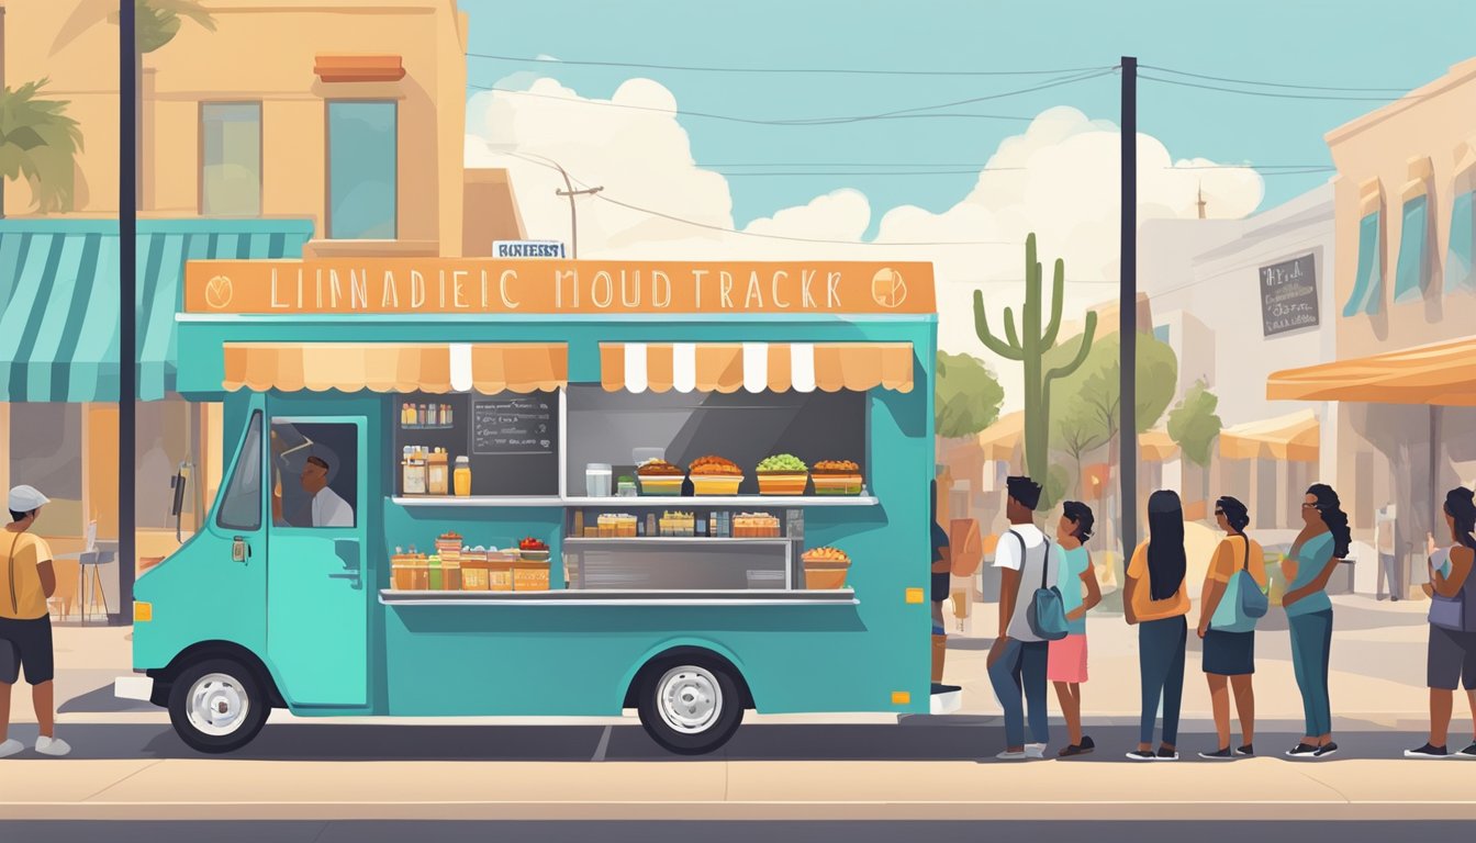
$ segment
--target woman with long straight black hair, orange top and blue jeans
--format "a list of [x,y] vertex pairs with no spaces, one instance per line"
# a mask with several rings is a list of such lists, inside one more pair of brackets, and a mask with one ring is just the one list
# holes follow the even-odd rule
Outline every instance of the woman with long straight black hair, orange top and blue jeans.
[[[1123,583],[1123,613],[1138,626],[1142,716],[1131,760],[1179,760],[1179,706],[1184,701],[1184,648],[1190,595],[1184,586],[1184,505],[1160,489],[1148,496],[1148,540],[1138,545]],[[1163,740],[1153,751],[1153,726],[1163,701]]]

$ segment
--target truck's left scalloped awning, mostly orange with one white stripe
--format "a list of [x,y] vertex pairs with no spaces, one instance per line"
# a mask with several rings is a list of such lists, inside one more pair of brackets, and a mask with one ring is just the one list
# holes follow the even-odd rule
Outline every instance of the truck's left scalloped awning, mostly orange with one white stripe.
[[568,384],[564,343],[226,343],[226,390],[486,394]]

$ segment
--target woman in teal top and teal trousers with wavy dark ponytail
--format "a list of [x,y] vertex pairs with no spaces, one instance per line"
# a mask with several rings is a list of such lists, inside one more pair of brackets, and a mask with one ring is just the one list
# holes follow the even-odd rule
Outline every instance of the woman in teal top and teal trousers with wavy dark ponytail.
[[1287,593],[1281,605],[1292,626],[1292,669],[1302,691],[1306,735],[1287,750],[1294,759],[1322,759],[1337,751],[1333,707],[1327,694],[1327,661],[1333,648],[1333,601],[1327,580],[1348,555],[1348,515],[1331,486],[1314,483],[1302,498],[1302,531],[1283,562]]

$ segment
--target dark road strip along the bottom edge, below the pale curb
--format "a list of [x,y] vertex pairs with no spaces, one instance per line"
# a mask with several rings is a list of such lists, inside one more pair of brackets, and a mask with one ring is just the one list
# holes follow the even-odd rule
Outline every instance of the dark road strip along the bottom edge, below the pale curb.
[[925,840],[1072,840],[1145,843],[1194,840],[1296,840],[1297,843],[1389,843],[1390,840],[1464,840],[1469,822],[0,822],[0,840],[69,843],[896,843]]

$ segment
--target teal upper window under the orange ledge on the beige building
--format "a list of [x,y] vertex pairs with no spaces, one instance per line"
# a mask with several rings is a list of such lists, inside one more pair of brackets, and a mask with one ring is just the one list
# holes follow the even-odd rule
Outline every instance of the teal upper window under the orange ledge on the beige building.
[[397,106],[328,103],[328,236],[396,236]]

